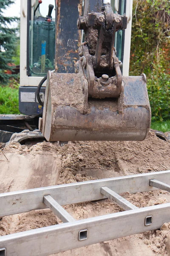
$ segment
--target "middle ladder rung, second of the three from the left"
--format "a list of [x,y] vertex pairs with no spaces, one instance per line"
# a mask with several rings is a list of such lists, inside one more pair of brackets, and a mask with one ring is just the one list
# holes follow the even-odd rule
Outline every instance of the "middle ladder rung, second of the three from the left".
[[131,204],[129,201],[127,201],[125,198],[123,198],[113,190],[109,189],[107,186],[101,188],[101,193],[105,195],[107,198],[113,200],[124,210],[138,209],[138,207]]

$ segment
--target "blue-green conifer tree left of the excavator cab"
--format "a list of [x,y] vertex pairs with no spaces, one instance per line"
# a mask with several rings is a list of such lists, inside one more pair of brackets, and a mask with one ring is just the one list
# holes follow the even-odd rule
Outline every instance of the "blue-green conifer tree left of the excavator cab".
[[10,28],[11,22],[17,21],[17,17],[4,17],[3,10],[14,1],[0,0],[0,81],[6,83],[11,78],[6,70],[12,70],[8,64],[12,63],[12,57],[16,48],[17,29]]

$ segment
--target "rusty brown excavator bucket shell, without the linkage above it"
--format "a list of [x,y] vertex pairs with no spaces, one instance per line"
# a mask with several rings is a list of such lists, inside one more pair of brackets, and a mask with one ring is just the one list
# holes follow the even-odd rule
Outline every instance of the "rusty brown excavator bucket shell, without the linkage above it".
[[51,73],[40,131],[48,141],[144,140],[151,111],[146,77],[124,76],[118,98],[85,96],[79,73]]

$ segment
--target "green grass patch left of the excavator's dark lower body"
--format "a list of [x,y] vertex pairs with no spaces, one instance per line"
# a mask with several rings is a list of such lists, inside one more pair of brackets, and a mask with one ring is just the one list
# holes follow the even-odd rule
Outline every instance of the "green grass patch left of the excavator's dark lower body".
[[20,114],[18,104],[18,86],[0,86],[0,114]]

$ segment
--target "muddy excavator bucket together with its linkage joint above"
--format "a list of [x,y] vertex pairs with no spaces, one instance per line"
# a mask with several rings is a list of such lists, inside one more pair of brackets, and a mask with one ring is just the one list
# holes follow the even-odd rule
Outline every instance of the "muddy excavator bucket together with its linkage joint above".
[[122,76],[115,33],[127,17],[109,4],[80,16],[85,32],[75,73],[48,72],[39,128],[48,141],[144,140],[151,111],[146,76]]

